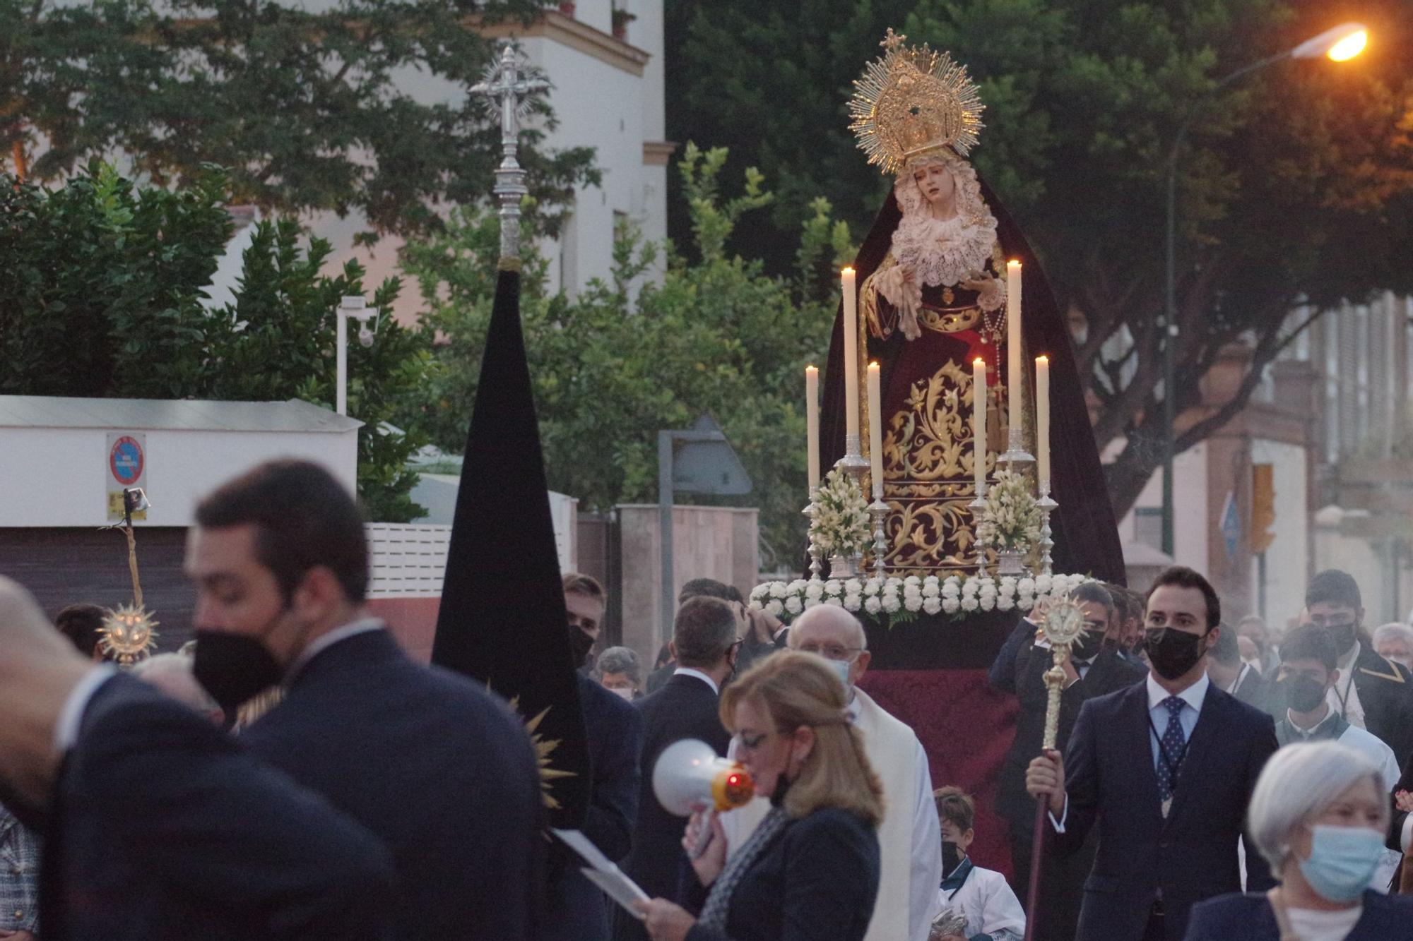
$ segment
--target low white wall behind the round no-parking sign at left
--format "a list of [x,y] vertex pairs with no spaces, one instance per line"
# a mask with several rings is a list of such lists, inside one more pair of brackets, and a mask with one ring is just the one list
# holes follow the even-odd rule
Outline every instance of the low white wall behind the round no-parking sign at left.
[[153,506],[134,526],[189,526],[196,503],[230,478],[274,458],[319,463],[349,490],[357,483],[357,430],[343,432],[0,428],[0,527],[107,526],[107,434],[146,435]]

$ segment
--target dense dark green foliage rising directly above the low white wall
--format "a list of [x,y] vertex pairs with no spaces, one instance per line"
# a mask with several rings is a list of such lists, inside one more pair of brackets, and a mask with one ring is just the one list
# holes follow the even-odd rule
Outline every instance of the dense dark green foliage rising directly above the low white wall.
[[[138,188],[103,164],[44,191],[0,175],[0,394],[126,398],[335,400],[335,307],[363,270],[321,274],[329,246],[291,220],[256,225],[235,304],[203,307],[226,250],[226,175],[181,191]],[[398,281],[373,291],[389,308]],[[407,459],[425,439],[389,430],[432,372],[422,335],[382,318],[349,345],[359,496],[370,519],[418,514]]]

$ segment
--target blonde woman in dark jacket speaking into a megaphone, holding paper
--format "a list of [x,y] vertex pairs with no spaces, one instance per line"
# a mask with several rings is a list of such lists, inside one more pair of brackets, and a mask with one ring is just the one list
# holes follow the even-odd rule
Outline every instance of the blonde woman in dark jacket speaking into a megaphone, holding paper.
[[861,941],[879,886],[883,788],[845,714],[844,684],[815,654],[779,653],[722,692],[721,721],[770,812],[726,859],[721,821],[692,815],[695,917],[639,903],[653,941]]

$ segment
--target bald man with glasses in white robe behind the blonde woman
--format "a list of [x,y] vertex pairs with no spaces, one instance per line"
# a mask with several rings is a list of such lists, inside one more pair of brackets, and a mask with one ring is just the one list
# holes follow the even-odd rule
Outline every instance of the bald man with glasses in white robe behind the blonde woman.
[[[942,836],[923,743],[911,728],[858,688],[870,656],[858,617],[836,605],[817,605],[790,625],[788,644],[791,650],[820,654],[844,681],[849,721],[863,733],[869,763],[883,783],[883,865],[865,941],[927,941],[942,882]],[[731,848],[745,842],[767,810],[769,803],[756,798],[722,817]]]

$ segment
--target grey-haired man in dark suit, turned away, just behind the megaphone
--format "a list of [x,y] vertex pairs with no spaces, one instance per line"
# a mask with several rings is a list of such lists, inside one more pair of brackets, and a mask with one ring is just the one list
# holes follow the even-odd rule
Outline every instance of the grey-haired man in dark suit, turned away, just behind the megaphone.
[[[670,814],[657,801],[653,767],[663,749],[682,739],[701,739],[718,754],[726,753],[731,736],[721,723],[718,697],[735,670],[736,630],[736,612],[729,603],[719,598],[690,598],[673,625],[677,671],[661,690],[636,704],[643,714],[642,790],[633,852],[623,870],[650,899],[681,904],[691,873],[682,851],[687,818]],[[613,937],[640,941],[647,934],[637,918],[619,911]]]

